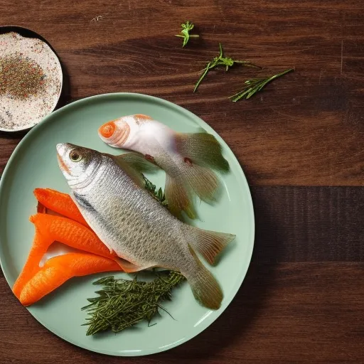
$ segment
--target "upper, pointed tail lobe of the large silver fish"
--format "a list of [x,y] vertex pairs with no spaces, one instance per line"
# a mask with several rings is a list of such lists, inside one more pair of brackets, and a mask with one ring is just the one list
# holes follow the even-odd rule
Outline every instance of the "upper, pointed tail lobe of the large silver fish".
[[236,236],[225,232],[203,230],[189,225],[187,231],[188,242],[194,250],[203,255],[209,264],[215,263],[215,258]]

